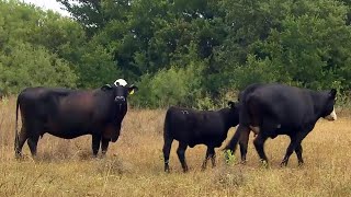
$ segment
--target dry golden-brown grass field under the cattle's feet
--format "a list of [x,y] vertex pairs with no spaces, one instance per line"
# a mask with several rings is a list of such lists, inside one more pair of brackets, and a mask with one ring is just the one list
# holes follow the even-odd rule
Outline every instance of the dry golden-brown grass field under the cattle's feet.
[[279,166],[288,144],[286,137],[267,141],[270,166],[262,167],[251,135],[246,165],[226,164],[217,149],[217,166],[202,172],[205,147],[197,146],[186,151],[186,174],[174,141],[171,173],[166,174],[165,111],[129,111],[120,139],[110,143],[104,159],[90,157],[90,136],[64,140],[45,135],[38,142],[37,160],[30,157],[25,143],[24,160],[18,161],[14,102],[0,103],[0,196],[351,196],[351,116],[344,112],[333,123],[320,119],[303,141],[303,167],[297,167],[295,154],[287,167]]

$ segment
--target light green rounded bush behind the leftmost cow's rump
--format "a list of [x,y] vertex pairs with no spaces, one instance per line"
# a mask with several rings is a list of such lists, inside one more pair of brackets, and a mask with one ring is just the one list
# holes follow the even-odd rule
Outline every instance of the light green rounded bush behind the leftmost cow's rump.
[[68,63],[42,47],[15,43],[0,53],[0,89],[18,93],[26,86],[76,86],[77,76]]

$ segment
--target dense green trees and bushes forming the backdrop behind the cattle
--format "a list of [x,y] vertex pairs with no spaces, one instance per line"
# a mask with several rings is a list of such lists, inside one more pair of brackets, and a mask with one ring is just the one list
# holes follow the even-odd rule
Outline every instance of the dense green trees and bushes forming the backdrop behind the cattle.
[[[133,102],[206,107],[252,82],[351,88],[348,0],[0,0],[0,89],[137,83]],[[11,14],[10,14],[11,13]]]

